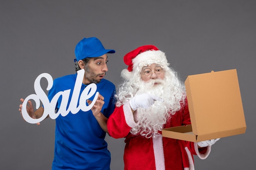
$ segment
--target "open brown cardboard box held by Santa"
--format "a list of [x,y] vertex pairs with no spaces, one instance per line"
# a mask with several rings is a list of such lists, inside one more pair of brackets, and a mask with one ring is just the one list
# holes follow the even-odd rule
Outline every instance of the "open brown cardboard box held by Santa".
[[236,69],[189,75],[185,86],[191,125],[165,128],[163,137],[198,142],[245,133]]

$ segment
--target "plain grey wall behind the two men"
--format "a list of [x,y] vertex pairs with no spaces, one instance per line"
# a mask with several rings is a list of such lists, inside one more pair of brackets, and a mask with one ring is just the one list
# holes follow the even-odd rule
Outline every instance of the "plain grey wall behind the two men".
[[[195,157],[195,168],[254,169],[255,9],[255,0],[1,0],[0,169],[51,169],[55,121],[23,121],[19,99],[34,94],[41,73],[74,73],[74,47],[92,36],[116,50],[106,76],[115,85],[127,68],[123,56],[145,44],[164,51],[182,80],[236,68],[247,131],[219,140],[207,159]],[[112,170],[122,170],[124,139],[106,140]]]

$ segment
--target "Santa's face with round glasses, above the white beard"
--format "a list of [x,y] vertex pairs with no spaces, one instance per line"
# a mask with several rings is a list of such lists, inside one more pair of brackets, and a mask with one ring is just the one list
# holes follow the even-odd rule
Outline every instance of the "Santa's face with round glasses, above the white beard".
[[159,64],[151,64],[150,66],[145,66],[141,70],[141,79],[144,82],[148,82],[151,79],[164,79],[163,68]]

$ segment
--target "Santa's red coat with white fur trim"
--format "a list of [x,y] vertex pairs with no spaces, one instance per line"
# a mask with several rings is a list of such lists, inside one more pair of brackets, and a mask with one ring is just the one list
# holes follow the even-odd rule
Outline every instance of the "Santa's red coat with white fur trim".
[[[136,119],[136,112],[135,112]],[[114,138],[125,137],[125,170],[194,170],[193,155],[201,159],[208,157],[211,146],[200,148],[194,142],[162,137],[132,135],[130,129],[137,126],[127,102],[116,107],[108,119],[108,132]],[[164,128],[191,124],[187,103],[171,116]],[[161,131],[159,131],[160,134]]]

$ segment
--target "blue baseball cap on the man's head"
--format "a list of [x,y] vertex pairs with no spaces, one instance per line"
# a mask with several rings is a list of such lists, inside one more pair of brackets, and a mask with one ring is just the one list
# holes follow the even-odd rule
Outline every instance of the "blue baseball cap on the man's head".
[[105,49],[101,41],[96,37],[83,38],[75,48],[76,61],[88,57],[100,57],[106,53],[115,53],[115,50]]

